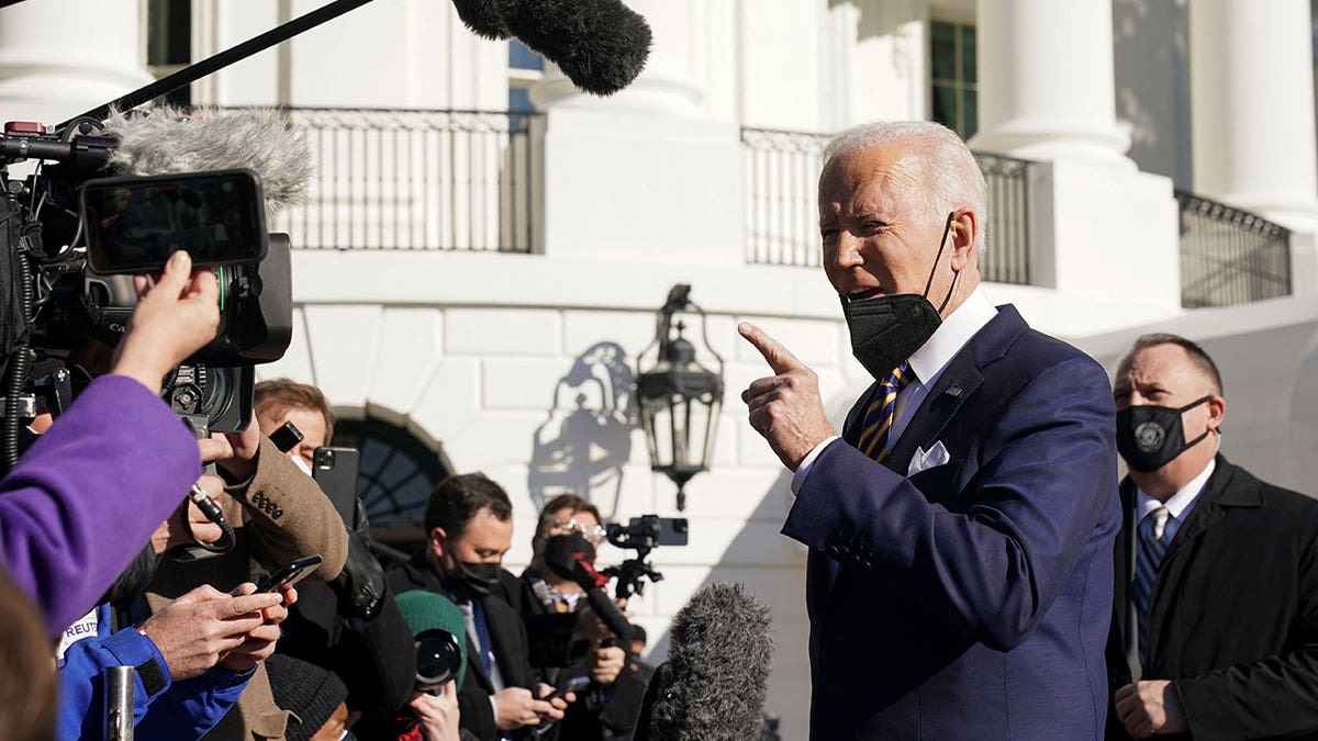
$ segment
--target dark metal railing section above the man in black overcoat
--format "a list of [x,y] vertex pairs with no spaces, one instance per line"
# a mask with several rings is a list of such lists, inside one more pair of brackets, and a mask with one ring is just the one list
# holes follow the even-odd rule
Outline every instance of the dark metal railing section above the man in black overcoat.
[[1290,231],[1257,214],[1177,191],[1181,306],[1234,306],[1290,295]]

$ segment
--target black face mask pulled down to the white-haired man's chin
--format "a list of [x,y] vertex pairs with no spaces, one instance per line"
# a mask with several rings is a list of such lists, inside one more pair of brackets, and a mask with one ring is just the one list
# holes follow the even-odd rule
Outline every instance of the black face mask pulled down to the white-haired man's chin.
[[956,290],[961,273],[957,272],[952,277],[948,295],[942,297],[942,305],[937,309],[929,303],[929,287],[933,286],[933,274],[938,269],[938,260],[942,258],[942,247],[948,243],[954,216],[956,212],[948,214],[948,224],[942,228],[942,241],[938,243],[938,254],[934,256],[933,268],[929,269],[924,294],[900,293],[861,301],[847,301],[845,295],[841,297],[842,316],[846,318],[846,326],[851,331],[851,355],[875,380],[886,378],[894,368],[924,347],[942,324],[942,310],[952,301],[952,291]]

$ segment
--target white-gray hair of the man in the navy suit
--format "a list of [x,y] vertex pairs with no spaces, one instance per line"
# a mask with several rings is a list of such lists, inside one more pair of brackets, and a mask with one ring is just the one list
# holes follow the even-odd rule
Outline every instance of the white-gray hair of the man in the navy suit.
[[908,141],[920,154],[932,215],[942,218],[958,208],[975,212],[975,247],[983,252],[988,186],[966,142],[948,127],[934,121],[874,121],[849,128],[824,148],[824,170],[844,157],[892,141]]

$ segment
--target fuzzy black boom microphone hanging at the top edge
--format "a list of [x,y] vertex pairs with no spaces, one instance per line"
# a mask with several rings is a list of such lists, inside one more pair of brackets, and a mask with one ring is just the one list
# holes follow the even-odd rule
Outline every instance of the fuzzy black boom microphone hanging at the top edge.
[[477,36],[515,36],[594,95],[627,87],[650,55],[650,24],[621,0],[452,1]]

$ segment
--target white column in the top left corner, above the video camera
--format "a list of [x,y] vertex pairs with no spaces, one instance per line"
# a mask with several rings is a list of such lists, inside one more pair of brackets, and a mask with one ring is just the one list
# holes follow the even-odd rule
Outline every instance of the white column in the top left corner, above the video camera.
[[38,0],[0,11],[0,120],[57,124],[152,82],[138,0]]

